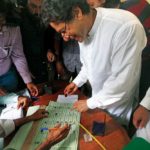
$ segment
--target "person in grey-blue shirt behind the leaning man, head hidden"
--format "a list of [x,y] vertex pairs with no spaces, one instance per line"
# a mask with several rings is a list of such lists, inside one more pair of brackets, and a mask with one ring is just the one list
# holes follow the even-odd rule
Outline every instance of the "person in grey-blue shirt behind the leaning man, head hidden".
[[80,51],[77,41],[63,41],[60,35],[56,34],[55,51],[49,50],[47,58],[49,62],[56,63],[56,72],[60,79],[69,81],[77,76],[81,70]]

